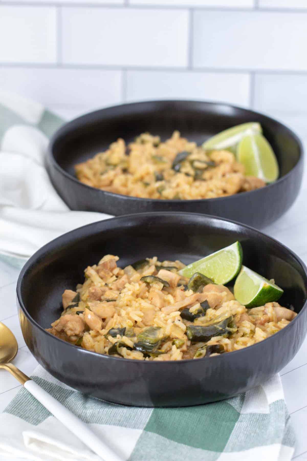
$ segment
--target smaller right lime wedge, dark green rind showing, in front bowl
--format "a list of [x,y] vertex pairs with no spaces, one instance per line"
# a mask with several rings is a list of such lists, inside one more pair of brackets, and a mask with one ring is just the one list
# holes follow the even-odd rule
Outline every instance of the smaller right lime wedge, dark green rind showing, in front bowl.
[[234,285],[234,296],[245,307],[264,306],[278,301],[284,290],[248,267],[242,266]]

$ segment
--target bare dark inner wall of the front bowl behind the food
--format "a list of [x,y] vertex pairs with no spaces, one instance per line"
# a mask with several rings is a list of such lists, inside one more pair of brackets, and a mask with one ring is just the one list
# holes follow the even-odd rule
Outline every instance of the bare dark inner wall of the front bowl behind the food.
[[[190,213],[144,213],[87,225],[41,248],[24,267],[20,296],[26,311],[43,328],[62,312],[61,295],[83,283],[84,269],[104,254],[119,266],[157,256],[190,263],[239,240],[243,264],[284,289],[280,303],[300,312],[307,299],[305,267],[287,248],[230,221]],[[17,290],[19,290],[17,287]]]

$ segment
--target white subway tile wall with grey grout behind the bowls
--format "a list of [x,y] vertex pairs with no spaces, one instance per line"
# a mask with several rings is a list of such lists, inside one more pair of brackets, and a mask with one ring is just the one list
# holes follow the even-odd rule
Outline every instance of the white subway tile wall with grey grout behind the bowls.
[[218,100],[307,139],[306,24],[307,0],[0,0],[0,88],[64,118]]

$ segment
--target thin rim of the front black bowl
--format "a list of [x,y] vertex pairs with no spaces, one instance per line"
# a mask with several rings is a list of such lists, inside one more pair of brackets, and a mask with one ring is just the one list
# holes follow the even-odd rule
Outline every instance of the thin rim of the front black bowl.
[[[29,314],[27,308],[25,307],[25,304],[23,303],[23,297],[22,297],[22,290],[21,290],[21,285],[22,285],[22,282],[23,282],[23,277],[25,275],[25,273],[29,270],[29,268],[32,266],[33,263],[35,263],[37,260],[39,260],[41,257],[44,257],[45,254],[48,252],[48,248],[52,248],[55,244],[61,242],[62,240],[64,241],[65,243],[65,240],[69,239],[69,236],[71,234],[76,234],[76,236],[78,235],[78,233],[80,232],[81,229],[86,229],[87,227],[92,227],[92,226],[95,226],[95,225],[101,225],[102,223],[104,222],[110,222],[110,221],[114,221],[114,220],[121,220],[121,219],[133,219],[135,217],[142,217],[142,216],[163,216],[163,215],[173,215],[173,216],[181,216],[181,215],[184,215],[185,217],[188,217],[188,216],[198,216],[199,218],[205,218],[205,219],[208,219],[209,222],[211,221],[219,221],[219,222],[226,222],[226,223],[231,223],[231,224],[234,224],[234,225],[237,225],[237,226],[240,226],[242,227],[243,229],[247,230],[248,232],[252,232],[252,233],[255,233],[255,234],[260,234],[260,237],[264,237],[266,240],[268,240],[269,242],[272,242],[275,246],[277,246],[277,248],[279,249],[283,249],[283,250],[286,250],[294,260],[296,260],[296,262],[301,266],[301,268],[303,269],[304,271],[304,274],[305,274],[305,284],[306,284],[306,287],[307,287],[307,266],[305,265],[305,263],[301,260],[301,258],[299,256],[297,256],[292,250],[290,250],[290,248],[288,248],[287,246],[285,246],[283,243],[280,243],[278,242],[278,240],[272,238],[271,236],[268,236],[266,235],[265,233],[261,232],[261,231],[258,231],[257,229],[249,226],[249,225],[245,225],[245,224],[241,224],[237,221],[233,221],[231,219],[224,219],[224,218],[220,218],[220,217],[217,217],[217,216],[211,216],[211,215],[208,215],[208,214],[202,214],[202,213],[185,213],[185,212],[147,212],[147,213],[132,213],[132,214],[125,214],[125,215],[122,215],[122,216],[115,216],[113,218],[108,218],[108,219],[102,219],[101,221],[95,221],[93,223],[90,223],[90,224],[87,224],[87,225],[84,225],[84,226],[80,226],[80,227],[77,227],[76,229],[72,230],[72,231],[69,231],[69,232],[66,232],[65,234],[62,234],[61,236],[58,236],[57,238],[51,240],[51,242],[48,242],[46,243],[45,245],[43,245],[39,250],[37,250],[30,258],[29,260],[24,264],[20,274],[19,274],[19,277],[18,277],[18,280],[17,280],[17,287],[16,287],[16,295],[17,295],[17,303],[19,305],[19,307],[21,308],[21,310],[23,311],[24,315],[27,317],[27,319],[30,321],[30,323],[32,325],[34,325],[36,328],[38,328],[40,331],[43,332],[43,334],[49,336],[49,337],[52,337],[54,340],[56,341],[59,341],[60,343],[65,343],[73,348],[75,348],[76,350],[79,351],[79,353],[81,354],[90,354],[90,355],[94,355],[94,356],[97,356],[97,357],[100,357],[102,360],[105,359],[105,360],[117,360],[117,361],[124,361],[125,363],[129,363],[129,362],[134,362],[132,359],[125,359],[123,357],[114,357],[112,355],[104,355],[104,354],[99,354],[98,352],[93,352],[93,351],[90,351],[90,350],[87,350],[87,349],[83,349],[81,347],[78,347],[78,346],[75,346],[74,344],[70,344],[68,343],[67,341],[64,341],[63,339],[60,339],[54,335],[52,335],[51,333],[49,333],[48,331],[45,330],[45,328],[43,328],[41,325],[39,325],[35,319],[33,319],[31,317],[31,315]],[[70,240],[70,239],[69,239]],[[58,245],[56,245],[57,247]],[[210,357],[211,359],[214,359],[214,360],[227,360],[225,359],[224,357],[227,357],[229,354],[237,354],[237,357],[239,357],[240,354],[243,354],[244,351],[246,351],[246,349],[250,349],[250,348],[256,348],[256,347],[259,347],[261,343],[264,343],[265,341],[267,342],[267,347],[269,347],[269,342],[273,341],[274,339],[274,336],[275,335],[278,335],[278,334],[281,334],[286,328],[289,330],[290,328],[294,328],[294,325],[295,325],[295,322],[298,322],[299,318],[301,318],[302,316],[302,313],[303,311],[305,311],[307,309],[307,299],[306,301],[304,302],[303,306],[301,307],[301,310],[299,313],[297,313],[297,315],[295,316],[295,318],[293,320],[290,321],[290,323],[288,325],[286,325],[282,330],[278,331],[277,333],[274,333],[273,335],[271,335],[270,337],[267,337],[265,338],[264,340],[262,340],[261,342],[258,342],[258,343],[255,343],[255,344],[252,344],[251,346],[247,346],[247,347],[244,347],[243,349],[238,349],[238,350],[235,350],[235,351],[232,351],[232,352],[227,352],[226,354],[221,354],[221,355],[216,355],[216,356],[213,356],[213,357]],[[183,359],[183,360],[180,360],[179,362],[192,362],[194,359]],[[178,361],[174,361],[174,360],[168,360],[168,361],[149,361],[149,360],[144,360],[144,361],[138,361],[138,362],[141,362],[141,363],[151,363],[151,364],[161,364],[161,363],[168,363],[168,364],[177,364]],[[146,366],[146,365],[145,365]],[[152,366],[152,365],[151,365]]]

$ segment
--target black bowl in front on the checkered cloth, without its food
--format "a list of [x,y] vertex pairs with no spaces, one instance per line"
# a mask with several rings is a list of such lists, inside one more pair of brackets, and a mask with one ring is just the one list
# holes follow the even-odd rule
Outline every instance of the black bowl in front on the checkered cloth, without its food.
[[[122,267],[154,255],[190,263],[236,240],[243,263],[275,278],[284,288],[280,303],[298,313],[261,343],[200,360],[133,361],[78,348],[44,330],[61,313],[64,289],[75,289],[84,268],[104,254],[117,254]],[[306,271],[288,248],[245,225],[193,213],[127,215],[80,227],[37,251],[17,282],[19,319],[36,360],[87,395],[145,407],[197,405],[249,390],[294,357],[307,331]]]

